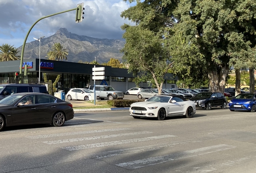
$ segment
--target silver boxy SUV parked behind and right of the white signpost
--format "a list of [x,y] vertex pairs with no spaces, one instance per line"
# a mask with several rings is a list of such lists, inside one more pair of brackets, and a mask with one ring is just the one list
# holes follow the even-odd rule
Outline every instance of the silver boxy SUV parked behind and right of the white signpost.
[[[95,85],[96,94],[99,95],[101,100],[108,99],[123,99],[124,93],[122,91],[116,91],[113,87],[108,85]],[[94,91],[94,85],[90,85],[89,90]]]

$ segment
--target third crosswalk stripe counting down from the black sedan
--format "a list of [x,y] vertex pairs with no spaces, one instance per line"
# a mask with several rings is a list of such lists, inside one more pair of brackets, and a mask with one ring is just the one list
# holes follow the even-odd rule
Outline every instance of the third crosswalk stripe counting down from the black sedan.
[[65,149],[68,151],[76,151],[76,150],[82,150],[82,149],[90,149],[90,148],[96,148],[96,147],[105,147],[105,146],[121,145],[121,144],[136,143],[136,142],[143,142],[143,141],[151,141],[151,140],[165,139],[165,138],[171,138],[171,137],[176,137],[176,136],[161,135],[161,136],[144,137],[144,138],[136,138],[136,139],[126,139],[126,140],[120,140],[120,141],[110,141],[110,142],[104,142],[104,143],[76,145],[76,146],[71,146],[71,147],[62,147],[62,149]]

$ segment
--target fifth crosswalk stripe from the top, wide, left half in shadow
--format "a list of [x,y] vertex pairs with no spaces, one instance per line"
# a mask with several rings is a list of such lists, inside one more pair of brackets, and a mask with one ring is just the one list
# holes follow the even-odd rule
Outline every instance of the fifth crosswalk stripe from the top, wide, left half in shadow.
[[146,159],[124,162],[124,163],[119,163],[116,165],[120,166],[120,167],[127,168],[127,169],[137,169],[137,168],[146,167],[146,166],[150,166],[150,165],[157,165],[159,163],[165,163],[168,161],[179,160],[179,159],[194,157],[194,156],[198,156],[198,155],[204,155],[204,154],[213,153],[213,152],[217,152],[217,151],[223,151],[223,150],[232,149],[232,148],[235,148],[235,146],[225,145],[225,144],[213,145],[210,147],[203,147],[203,148],[199,148],[199,149],[182,151],[182,152],[174,153],[171,155],[149,157]]

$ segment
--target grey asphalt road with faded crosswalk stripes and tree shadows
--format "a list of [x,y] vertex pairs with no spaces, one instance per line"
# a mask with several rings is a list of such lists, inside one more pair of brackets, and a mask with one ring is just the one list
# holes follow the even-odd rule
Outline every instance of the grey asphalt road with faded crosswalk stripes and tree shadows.
[[0,173],[255,173],[256,113],[197,109],[194,118],[76,113],[64,127],[0,132]]

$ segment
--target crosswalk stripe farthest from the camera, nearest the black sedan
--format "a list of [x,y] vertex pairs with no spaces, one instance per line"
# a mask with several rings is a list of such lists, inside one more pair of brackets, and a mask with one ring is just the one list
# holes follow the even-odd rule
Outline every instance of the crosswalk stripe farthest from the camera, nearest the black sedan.
[[88,133],[101,133],[101,132],[111,132],[111,131],[124,131],[131,130],[130,128],[116,128],[116,129],[102,129],[102,130],[93,130],[93,131],[78,131],[78,132],[70,132],[70,133],[56,133],[56,134],[48,134],[48,135],[37,135],[37,136],[27,136],[29,139],[40,139],[40,138],[49,138],[49,137],[61,137],[61,136],[70,136],[70,135],[81,135]]

